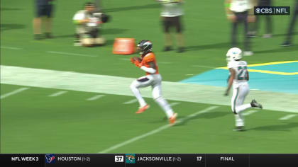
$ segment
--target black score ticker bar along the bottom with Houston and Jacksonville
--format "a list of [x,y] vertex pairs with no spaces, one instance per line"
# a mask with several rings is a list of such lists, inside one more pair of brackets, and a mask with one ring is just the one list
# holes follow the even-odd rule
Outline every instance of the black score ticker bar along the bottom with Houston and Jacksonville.
[[0,154],[0,166],[298,166],[298,154]]

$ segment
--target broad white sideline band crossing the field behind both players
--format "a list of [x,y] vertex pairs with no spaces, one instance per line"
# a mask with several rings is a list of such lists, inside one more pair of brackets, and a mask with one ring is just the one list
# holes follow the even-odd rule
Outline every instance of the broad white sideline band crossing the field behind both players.
[[[0,65],[0,68],[1,84],[55,88],[57,90],[83,91],[135,98],[129,86],[136,78],[4,65]],[[144,98],[152,98],[150,87],[142,88],[140,91]],[[226,91],[226,88],[221,86],[162,81],[162,96],[173,101],[230,106],[231,94],[230,98],[220,96],[224,91]],[[247,98],[256,98],[258,101],[263,101],[267,110],[298,113],[298,94],[295,93],[250,91]]]

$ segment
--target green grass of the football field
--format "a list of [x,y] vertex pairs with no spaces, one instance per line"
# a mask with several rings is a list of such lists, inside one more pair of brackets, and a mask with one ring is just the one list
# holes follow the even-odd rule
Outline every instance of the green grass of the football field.
[[[151,40],[163,81],[178,82],[187,79],[187,74],[201,74],[226,66],[230,24],[221,1],[189,0],[184,4],[186,52],[182,54],[161,51],[164,40],[159,20],[160,6],[151,0],[131,0],[129,3],[123,0],[103,1],[104,10],[112,16],[112,21],[106,23],[102,30],[107,44],[104,47],[74,47],[72,16],[82,8],[83,2],[56,1],[53,18],[55,38],[36,41],[33,40],[32,29],[33,1],[2,0],[1,66],[126,78],[142,76],[143,71],[126,60],[130,56],[111,54],[114,38]],[[275,1],[275,6],[291,5],[292,1]],[[285,38],[289,18],[274,16],[274,38],[253,39],[255,54],[244,58],[248,64],[297,60],[297,45],[289,48],[279,46]],[[264,29],[261,27],[260,35]],[[297,35],[293,43],[298,44]],[[251,82],[253,80],[250,79]],[[125,104],[134,99],[132,93],[131,96],[123,96],[73,91],[67,85],[65,89],[56,89],[4,84],[1,79],[1,96],[24,87],[28,89],[1,98],[1,153],[298,152],[298,117],[279,120],[295,113],[258,110],[245,117],[245,132],[233,132],[234,117],[230,106],[211,105],[208,99],[206,103],[169,100],[169,103],[175,104],[173,109],[179,113],[181,122],[168,127],[165,114],[152,98],[145,98],[151,105],[148,112],[134,114],[138,104]],[[67,92],[50,96],[59,91]],[[104,96],[87,100],[97,95]],[[219,96],[223,96],[223,92],[219,92]],[[263,105],[266,106],[266,103]],[[213,106],[216,108],[206,113],[192,115]],[[248,112],[251,110],[255,109]],[[132,142],[123,144],[127,141]],[[112,146],[116,146],[115,149],[109,149]]]

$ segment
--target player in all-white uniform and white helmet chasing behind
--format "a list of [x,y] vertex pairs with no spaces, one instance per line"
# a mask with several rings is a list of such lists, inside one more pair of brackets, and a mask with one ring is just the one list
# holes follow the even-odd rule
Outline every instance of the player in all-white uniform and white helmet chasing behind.
[[228,61],[228,71],[230,76],[228,78],[228,88],[226,89],[225,96],[228,96],[231,86],[233,85],[233,96],[231,99],[231,108],[235,114],[236,128],[235,131],[242,131],[244,127],[244,117],[242,115],[243,110],[248,108],[263,108],[256,100],[252,100],[251,103],[243,104],[245,97],[249,93],[248,86],[248,67],[245,61],[242,61],[242,51],[233,47],[228,50],[226,59]]

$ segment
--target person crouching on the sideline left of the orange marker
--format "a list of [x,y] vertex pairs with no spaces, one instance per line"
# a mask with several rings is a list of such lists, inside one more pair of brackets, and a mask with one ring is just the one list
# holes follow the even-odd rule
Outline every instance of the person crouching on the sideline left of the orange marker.
[[77,11],[73,20],[77,26],[75,34],[75,46],[92,47],[104,45],[105,40],[100,36],[100,25],[106,23],[109,17],[104,13],[96,12],[94,3],[87,2],[84,10]]

